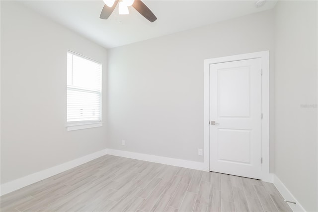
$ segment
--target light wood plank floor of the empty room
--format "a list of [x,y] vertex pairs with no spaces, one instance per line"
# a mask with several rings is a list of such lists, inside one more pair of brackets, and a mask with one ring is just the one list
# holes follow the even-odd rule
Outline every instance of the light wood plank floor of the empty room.
[[273,184],[106,155],[1,197],[2,212],[285,212]]

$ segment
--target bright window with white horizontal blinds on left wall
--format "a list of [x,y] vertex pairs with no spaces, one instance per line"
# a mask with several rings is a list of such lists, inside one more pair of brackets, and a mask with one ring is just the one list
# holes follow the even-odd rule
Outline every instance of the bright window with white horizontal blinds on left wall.
[[68,51],[67,127],[101,126],[101,64]]

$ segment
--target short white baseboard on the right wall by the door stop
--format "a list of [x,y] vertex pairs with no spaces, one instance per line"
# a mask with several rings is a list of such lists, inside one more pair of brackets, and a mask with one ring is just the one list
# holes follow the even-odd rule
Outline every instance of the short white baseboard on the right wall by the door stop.
[[292,193],[286,188],[286,186],[280,181],[280,179],[274,174],[274,185],[276,186],[279,193],[287,201],[296,202],[296,205],[293,203],[288,203],[293,212],[306,212],[306,210],[300,205]]

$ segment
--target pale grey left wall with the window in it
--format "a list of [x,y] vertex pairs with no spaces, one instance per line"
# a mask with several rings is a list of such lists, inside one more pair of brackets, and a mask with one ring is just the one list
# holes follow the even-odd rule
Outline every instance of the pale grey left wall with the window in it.
[[1,184],[106,148],[105,124],[65,127],[67,50],[103,63],[106,120],[106,49],[1,1]]

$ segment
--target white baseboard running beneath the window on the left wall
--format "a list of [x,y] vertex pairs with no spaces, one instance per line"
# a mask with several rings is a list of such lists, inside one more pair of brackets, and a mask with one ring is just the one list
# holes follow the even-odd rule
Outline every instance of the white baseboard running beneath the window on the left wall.
[[56,174],[59,174],[61,172],[67,171],[69,169],[72,169],[74,167],[77,167],[81,164],[87,163],[91,160],[94,160],[96,158],[99,158],[103,155],[107,154],[107,150],[103,149],[98,152],[94,152],[89,155],[85,155],[83,157],[80,157],[78,159],[30,174],[28,176],[4,183],[0,185],[0,195],[5,195],[7,193],[13,192],[17,189],[23,188],[25,186],[31,185],[33,183],[36,183],[38,181],[44,180],[46,178],[52,177]]

